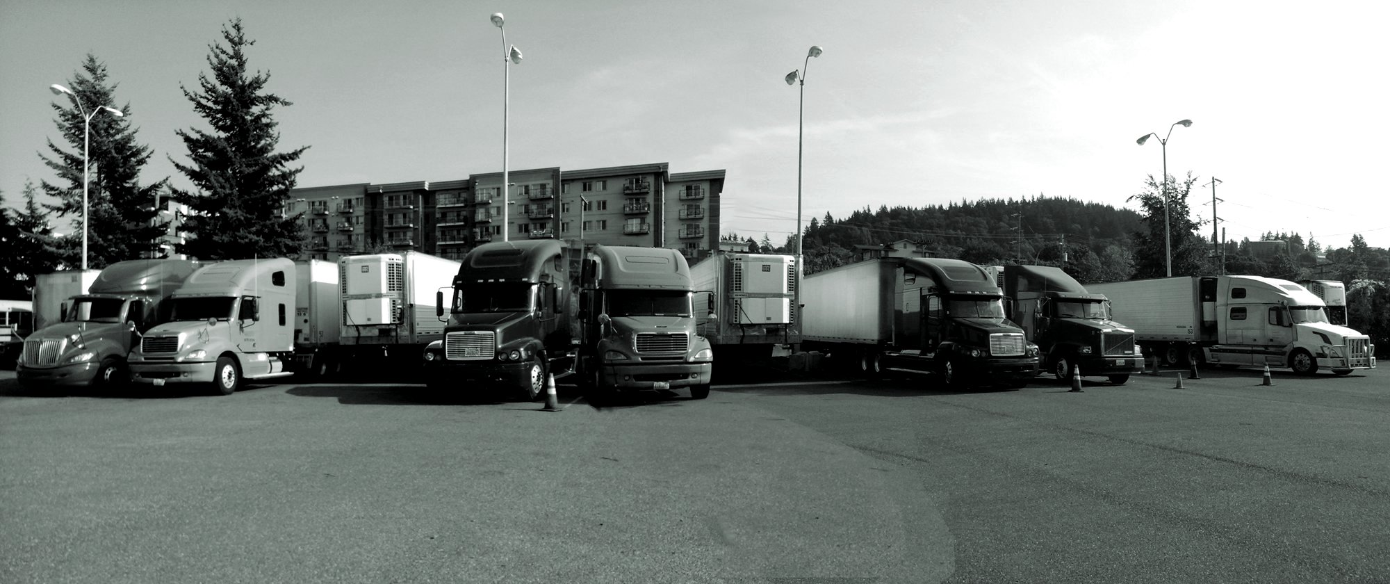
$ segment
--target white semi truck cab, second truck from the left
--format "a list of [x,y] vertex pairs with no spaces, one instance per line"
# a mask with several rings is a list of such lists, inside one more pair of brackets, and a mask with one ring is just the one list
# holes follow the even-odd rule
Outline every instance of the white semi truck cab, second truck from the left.
[[199,268],[168,298],[167,321],[131,352],[131,381],[207,387],[293,374],[296,266],[284,257]]

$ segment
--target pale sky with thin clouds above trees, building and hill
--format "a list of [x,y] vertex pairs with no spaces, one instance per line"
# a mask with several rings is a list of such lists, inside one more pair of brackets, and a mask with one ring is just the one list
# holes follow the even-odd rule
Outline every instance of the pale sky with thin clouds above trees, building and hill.
[[[299,186],[499,172],[492,13],[524,56],[510,170],[724,170],[724,234],[795,232],[801,135],[803,221],[1038,195],[1138,210],[1166,150],[1169,174],[1197,177],[1197,218],[1219,179],[1226,239],[1390,248],[1390,4],[1375,1],[0,0],[0,195],[19,207],[26,179],[53,179],[38,153],[68,103],[49,85],[88,53],[154,152],[142,181],[188,186],[175,131],[207,125],[181,86],[231,18],[293,102],[274,115],[281,152],[310,146]],[[1137,145],[1148,132],[1168,146]]]

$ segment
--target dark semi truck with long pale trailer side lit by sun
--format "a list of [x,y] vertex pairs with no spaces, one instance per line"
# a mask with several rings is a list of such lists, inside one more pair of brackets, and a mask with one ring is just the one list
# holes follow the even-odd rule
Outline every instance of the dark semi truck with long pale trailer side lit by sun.
[[948,388],[1023,388],[1038,373],[1038,346],[1005,318],[1004,291],[980,266],[878,257],[802,284],[802,346],[867,377],[899,368]]

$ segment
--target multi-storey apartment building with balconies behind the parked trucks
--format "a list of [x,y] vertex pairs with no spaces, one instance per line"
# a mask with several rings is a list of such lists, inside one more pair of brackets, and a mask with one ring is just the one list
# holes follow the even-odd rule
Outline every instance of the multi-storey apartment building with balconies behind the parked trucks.
[[719,249],[724,171],[670,172],[666,163],[563,171],[474,174],[442,182],[299,188],[284,213],[303,213],[304,257],[417,250],[461,259],[503,239],[680,249],[691,260]]

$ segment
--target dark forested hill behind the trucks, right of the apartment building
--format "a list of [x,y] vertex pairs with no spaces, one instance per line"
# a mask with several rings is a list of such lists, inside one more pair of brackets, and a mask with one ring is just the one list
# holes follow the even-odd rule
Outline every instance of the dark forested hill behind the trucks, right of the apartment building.
[[[940,257],[958,257],[980,264],[1023,259],[1048,263],[1066,250],[1072,261],[1133,248],[1143,229],[1140,214],[1109,204],[1076,199],[1038,196],[1033,199],[984,199],[948,206],[865,207],[847,218],[828,213],[810,220],[805,235],[806,268],[819,271],[840,266],[853,254],[855,245],[917,242]],[[1022,238],[1019,234],[1022,232]],[[794,249],[788,241],[787,249]]]

